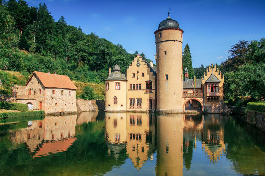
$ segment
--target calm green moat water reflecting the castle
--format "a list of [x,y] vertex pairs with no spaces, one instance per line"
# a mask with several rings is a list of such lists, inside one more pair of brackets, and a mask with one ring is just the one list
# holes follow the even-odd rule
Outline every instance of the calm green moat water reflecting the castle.
[[233,116],[82,112],[0,123],[0,175],[265,175],[265,132]]

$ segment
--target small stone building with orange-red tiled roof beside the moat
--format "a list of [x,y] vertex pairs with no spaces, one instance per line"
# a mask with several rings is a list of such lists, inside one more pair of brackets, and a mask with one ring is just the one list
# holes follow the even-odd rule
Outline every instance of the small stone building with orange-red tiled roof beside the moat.
[[74,113],[77,112],[76,89],[66,75],[34,71],[25,86],[12,87],[12,101],[46,114]]

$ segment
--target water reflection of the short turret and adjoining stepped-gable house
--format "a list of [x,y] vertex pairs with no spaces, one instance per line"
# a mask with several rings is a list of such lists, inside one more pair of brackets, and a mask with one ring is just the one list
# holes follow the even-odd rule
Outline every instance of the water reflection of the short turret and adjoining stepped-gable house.
[[148,158],[152,160],[156,149],[154,114],[131,112],[106,112],[105,139],[109,146],[109,154],[118,157],[122,149],[134,167],[141,168]]

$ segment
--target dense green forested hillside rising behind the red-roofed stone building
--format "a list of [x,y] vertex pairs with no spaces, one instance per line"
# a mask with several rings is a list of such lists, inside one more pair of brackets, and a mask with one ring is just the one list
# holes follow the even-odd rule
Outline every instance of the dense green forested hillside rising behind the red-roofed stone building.
[[[38,7],[29,7],[23,0],[0,3],[2,70],[23,74],[56,71],[74,80],[102,82],[108,76],[108,67],[117,62],[125,73],[138,54],[67,25],[63,16],[55,21],[45,3]],[[144,53],[141,55],[146,59]]]

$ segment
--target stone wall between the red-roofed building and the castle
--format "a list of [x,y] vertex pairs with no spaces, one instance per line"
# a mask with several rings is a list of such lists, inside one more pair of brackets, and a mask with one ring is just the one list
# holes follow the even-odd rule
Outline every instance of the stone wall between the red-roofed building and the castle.
[[83,100],[76,99],[76,106],[78,112],[83,111],[104,111],[105,101],[104,100]]

